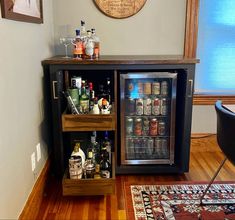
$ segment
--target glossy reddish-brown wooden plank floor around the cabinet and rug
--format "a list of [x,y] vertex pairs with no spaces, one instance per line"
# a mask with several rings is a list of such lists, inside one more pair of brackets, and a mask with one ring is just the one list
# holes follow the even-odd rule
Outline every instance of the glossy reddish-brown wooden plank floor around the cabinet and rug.
[[[117,176],[116,194],[110,196],[63,197],[61,183],[53,177],[48,181],[45,196],[37,219],[77,219],[77,220],[124,220],[124,182],[160,184],[173,181],[208,181],[218,168],[223,155],[219,150],[215,136],[192,138],[190,171],[182,175],[140,175]],[[235,180],[235,167],[226,162],[216,180]]]

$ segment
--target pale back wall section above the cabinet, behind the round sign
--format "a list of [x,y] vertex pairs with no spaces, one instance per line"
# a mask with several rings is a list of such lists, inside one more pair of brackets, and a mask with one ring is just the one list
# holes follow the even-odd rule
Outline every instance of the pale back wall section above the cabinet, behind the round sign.
[[80,20],[85,20],[86,28],[96,28],[100,36],[101,54],[183,54],[185,10],[186,0],[147,0],[136,15],[114,19],[91,0],[56,0],[56,43],[60,35],[75,36]]

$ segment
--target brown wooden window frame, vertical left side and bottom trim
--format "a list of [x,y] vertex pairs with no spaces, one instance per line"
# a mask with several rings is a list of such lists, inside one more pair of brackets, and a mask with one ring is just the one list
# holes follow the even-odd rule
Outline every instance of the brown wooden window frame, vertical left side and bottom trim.
[[[185,20],[184,57],[196,58],[198,38],[199,0],[187,0]],[[214,105],[216,100],[223,104],[234,104],[235,96],[231,95],[194,95],[194,105]]]

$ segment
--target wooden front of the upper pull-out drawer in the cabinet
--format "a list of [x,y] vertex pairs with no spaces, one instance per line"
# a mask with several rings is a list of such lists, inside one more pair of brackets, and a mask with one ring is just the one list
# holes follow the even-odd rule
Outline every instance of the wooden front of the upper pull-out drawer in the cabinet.
[[115,130],[116,116],[109,115],[62,115],[63,131],[111,131]]

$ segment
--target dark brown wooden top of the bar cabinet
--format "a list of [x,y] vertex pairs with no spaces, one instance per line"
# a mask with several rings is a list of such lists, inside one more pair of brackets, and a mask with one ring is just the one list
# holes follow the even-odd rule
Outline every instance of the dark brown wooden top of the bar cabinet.
[[55,56],[42,61],[42,65],[66,64],[66,65],[99,65],[99,64],[196,64],[198,59],[184,58],[181,55],[103,55],[98,59],[74,59]]

